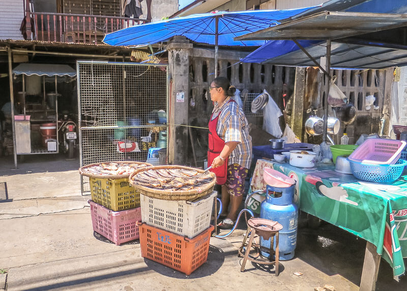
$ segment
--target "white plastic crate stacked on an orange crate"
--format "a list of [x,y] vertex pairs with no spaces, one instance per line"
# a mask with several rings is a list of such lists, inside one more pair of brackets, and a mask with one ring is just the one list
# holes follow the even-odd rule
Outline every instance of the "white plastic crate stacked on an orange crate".
[[141,256],[190,275],[208,259],[217,193],[195,201],[162,200],[140,195]]

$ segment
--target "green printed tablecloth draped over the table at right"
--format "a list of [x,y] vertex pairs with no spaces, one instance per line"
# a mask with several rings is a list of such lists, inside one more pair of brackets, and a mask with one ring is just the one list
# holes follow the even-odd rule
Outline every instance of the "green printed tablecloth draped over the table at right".
[[287,163],[258,160],[251,190],[263,188],[263,169],[273,168],[296,179],[296,203],[300,209],[343,228],[374,244],[377,253],[404,273],[407,257],[407,176],[392,184],[357,180],[340,174],[334,166],[297,168]]

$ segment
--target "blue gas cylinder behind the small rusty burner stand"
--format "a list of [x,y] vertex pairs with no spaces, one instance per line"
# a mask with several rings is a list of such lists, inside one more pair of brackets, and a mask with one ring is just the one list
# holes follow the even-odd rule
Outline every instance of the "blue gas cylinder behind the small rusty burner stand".
[[[279,259],[289,260],[294,257],[294,251],[297,245],[297,226],[298,226],[298,206],[293,202],[295,184],[287,187],[273,187],[267,185],[266,200],[261,202],[260,218],[277,221],[283,226],[279,231]],[[260,246],[270,248],[271,239],[268,241],[260,237]],[[276,241],[274,240],[274,250]],[[270,253],[262,251],[265,257],[270,257]]]

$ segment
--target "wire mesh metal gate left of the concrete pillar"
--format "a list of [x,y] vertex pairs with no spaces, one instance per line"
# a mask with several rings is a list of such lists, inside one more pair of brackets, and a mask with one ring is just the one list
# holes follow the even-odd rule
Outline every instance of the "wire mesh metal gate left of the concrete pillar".
[[[166,164],[166,65],[78,61],[80,166],[111,161]],[[89,179],[81,176],[81,190]]]

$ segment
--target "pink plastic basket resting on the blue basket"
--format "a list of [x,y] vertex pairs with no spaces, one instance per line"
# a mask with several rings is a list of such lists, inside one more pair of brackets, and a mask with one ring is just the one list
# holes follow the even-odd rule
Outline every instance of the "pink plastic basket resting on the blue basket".
[[405,146],[404,141],[367,139],[348,157],[353,162],[373,165],[395,164]]

